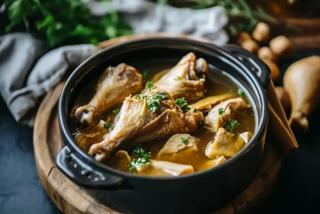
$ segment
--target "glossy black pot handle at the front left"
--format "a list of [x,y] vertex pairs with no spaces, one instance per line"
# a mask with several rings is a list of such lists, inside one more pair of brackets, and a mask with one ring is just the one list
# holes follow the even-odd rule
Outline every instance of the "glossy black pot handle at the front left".
[[122,189],[123,178],[115,175],[104,175],[85,164],[68,146],[62,148],[56,158],[57,167],[77,185],[88,189]]

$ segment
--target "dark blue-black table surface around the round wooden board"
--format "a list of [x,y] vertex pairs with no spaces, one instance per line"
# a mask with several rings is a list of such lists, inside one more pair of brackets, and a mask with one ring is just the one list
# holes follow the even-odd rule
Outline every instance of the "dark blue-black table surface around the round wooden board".
[[[320,50],[300,51],[279,64],[281,73],[294,61],[320,56]],[[275,82],[281,85],[282,77]],[[309,213],[320,201],[320,109],[310,118],[310,128],[298,137],[299,149],[285,158],[268,200],[256,213]],[[0,98],[0,213],[61,213],[44,191],[33,153],[33,129],[17,124]],[[317,211],[316,213],[319,213]]]

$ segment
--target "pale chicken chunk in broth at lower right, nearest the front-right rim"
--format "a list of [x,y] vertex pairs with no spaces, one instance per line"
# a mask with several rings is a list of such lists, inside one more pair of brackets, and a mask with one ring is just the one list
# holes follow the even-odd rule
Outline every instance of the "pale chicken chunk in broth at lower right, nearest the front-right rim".
[[248,143],[251,136],[251,133],[246,132],[240,134],[238,139],[235,139],[233,134],[228,133],[224,128],[219,128],[216,139],[213,143],[209,143],[205,150],[205,155],[212,159],[221,156],[232,157]]

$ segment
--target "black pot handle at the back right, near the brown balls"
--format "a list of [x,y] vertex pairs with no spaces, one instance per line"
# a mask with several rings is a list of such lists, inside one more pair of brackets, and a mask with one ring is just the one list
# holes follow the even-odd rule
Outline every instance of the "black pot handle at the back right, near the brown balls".
[[263,89],[268,87],[271,81],[271,70],[258,56],[233,44],[225,45],[222,48],[231,52],[237,57],[237,60],[243,63],[252,73],[257,75]]

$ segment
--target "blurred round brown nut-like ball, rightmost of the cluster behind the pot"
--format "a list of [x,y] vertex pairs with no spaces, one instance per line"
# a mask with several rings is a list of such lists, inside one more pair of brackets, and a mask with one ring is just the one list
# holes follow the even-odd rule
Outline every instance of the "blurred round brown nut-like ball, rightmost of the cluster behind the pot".
[[278,36],[270,41],[270,49],[280,58],[290,58],[294,54],[292,44],[285,36]]

